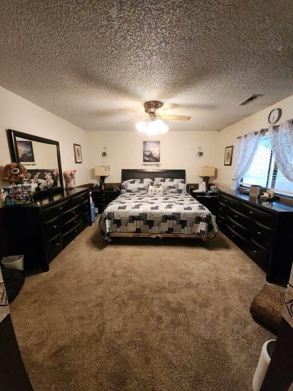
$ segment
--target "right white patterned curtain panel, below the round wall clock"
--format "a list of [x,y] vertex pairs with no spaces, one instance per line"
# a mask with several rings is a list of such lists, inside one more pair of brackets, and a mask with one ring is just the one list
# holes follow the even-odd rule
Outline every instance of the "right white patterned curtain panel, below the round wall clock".
[[293,182],[293,120],[269,126],[272,155],[278,169]]

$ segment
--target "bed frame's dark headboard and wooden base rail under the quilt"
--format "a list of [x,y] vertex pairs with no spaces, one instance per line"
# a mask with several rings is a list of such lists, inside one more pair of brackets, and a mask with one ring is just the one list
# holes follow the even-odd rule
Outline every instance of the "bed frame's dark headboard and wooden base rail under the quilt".
[[[121,170],[121,182],[127,181],[129,179],[139,179],[139,178],[150,178],[155,180],[155,178],[176,178],[186,180],[185,170],[148,170],[148,169],[122,169]],[[205,240],[202,236],[196,234],[184,234],[184,233],[135,233],[135,232],[110,232],[111,237],[124,237],[124,238],[134,238],[134,237],[150,237],[150,238],[160,238],[168,237],[180,237],[180,238],[200,238]]]

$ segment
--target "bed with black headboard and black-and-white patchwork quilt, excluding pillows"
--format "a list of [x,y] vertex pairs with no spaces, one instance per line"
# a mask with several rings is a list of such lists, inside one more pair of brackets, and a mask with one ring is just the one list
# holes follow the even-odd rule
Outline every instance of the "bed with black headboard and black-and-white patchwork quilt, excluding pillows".
[[[122,170],[122,182],[131,179],[177,178],[185,170]],[[121,193],[103,211],[99,227],[105,240],[113,236],[201,237],[218,233],[215,216],[190,194],[148,195],[146,191]]]

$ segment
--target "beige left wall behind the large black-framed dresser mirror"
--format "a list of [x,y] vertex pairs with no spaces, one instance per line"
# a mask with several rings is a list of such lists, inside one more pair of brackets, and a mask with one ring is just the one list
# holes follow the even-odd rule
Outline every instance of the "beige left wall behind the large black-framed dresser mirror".
[[[6,129],[51,138],[60,143],[62,170],[77,170],[76,184],[90,181],[88,134],[83,129],[0,87],[0,166],[9,163]],[[81,144],[83,162],[75,164],[73,143]],[[4,182],[0,182],[2,187]]]

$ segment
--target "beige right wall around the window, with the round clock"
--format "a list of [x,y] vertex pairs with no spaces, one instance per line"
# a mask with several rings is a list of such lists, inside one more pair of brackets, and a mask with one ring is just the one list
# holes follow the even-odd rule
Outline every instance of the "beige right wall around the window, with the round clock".
[[232,184],[232,167],[224,166],[225,147],[235,145],[236,138],[242,134],[267,128],[269,126],[268,116],[270,111],[278,107],[282,109],[282,116],[277,124],[293,118],[293,95],[217,132],[215,139],[217,144],[217,182],[225,185]]

